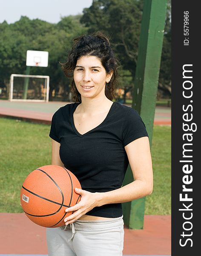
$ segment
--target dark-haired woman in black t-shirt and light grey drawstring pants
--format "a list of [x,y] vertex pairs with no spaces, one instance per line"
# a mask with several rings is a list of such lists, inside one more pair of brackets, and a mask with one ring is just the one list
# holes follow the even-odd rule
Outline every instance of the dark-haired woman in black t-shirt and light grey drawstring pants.
[[[133,108],[112,102],[118,63],[101,32],[74,39],[62,69],[73,76],[75,103],[52,117],[52,165],[73,172],[82,189],[65,225],[47,229],[49,256],[119,256],[121,203],[152,192],[146,128]],[[135,181],[121,187],[128,163]]]

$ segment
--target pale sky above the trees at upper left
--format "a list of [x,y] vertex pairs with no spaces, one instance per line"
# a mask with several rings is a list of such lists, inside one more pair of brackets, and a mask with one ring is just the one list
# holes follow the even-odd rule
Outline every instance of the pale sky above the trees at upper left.
[[61,17],[82,14],[92,0],[0,0],[0,23],[14,23],[21,16],[58,23]]

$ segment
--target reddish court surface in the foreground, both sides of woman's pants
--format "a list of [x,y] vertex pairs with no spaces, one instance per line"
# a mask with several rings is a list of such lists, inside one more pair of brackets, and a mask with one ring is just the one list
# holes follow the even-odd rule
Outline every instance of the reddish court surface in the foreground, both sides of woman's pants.
[[[170,215],[145,215],[143,230],[124,227],[124,232],[125,256],[171,255]],[[0,213],[0,253],[47,255],[46,228],[34,224],[24,213]]]

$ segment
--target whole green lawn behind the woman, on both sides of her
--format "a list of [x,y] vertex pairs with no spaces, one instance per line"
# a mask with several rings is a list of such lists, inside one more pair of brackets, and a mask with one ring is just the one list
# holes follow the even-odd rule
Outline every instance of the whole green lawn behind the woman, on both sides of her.
[[[51,164],[50,126],[0,118],[0,127],[0,212],[23,212],[23,181],[36,167]],[[169,126],[154,127],[154,191],[146,197],[145,214],[171,213],[170,130]]]

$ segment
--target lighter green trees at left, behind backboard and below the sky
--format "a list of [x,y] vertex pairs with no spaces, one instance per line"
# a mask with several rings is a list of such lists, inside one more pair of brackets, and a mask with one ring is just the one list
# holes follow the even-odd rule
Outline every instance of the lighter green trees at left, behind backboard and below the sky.
[[86,32],[80,24],[80,15],[63,17],[59,23],[30,20],[22,16],[19,21],[0,24],[0,78],[1,84],[9,84],[12,73],[24,74],[26,51],[49,52],[49,66],[31,67],[32,75],[50,76],[50,99],[52,90],[62,88],[63,100],[69,91],[70,79],[61,70],[60,62],[65,62],[71,49],[72,40]]

